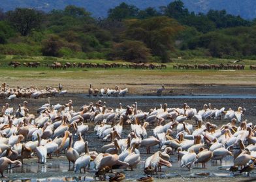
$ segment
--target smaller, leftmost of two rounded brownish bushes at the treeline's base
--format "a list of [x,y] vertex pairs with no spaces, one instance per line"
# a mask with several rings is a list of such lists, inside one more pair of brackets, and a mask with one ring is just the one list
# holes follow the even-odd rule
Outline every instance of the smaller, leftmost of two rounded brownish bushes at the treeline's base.
[[42,55],[57,57],[62,45],[63,42],[61,42],[60,38],[52,34],[49,38],[42,41]]

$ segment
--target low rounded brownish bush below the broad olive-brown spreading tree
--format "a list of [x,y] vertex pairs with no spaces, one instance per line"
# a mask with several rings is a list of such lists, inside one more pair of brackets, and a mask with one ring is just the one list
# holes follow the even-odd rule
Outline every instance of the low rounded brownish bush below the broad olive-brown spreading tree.
[[122,59],[129,62],[148,62],[150,49],[143,42],[136,40],[125,40],[114,44],[112,53],[108,55],[111,60]]

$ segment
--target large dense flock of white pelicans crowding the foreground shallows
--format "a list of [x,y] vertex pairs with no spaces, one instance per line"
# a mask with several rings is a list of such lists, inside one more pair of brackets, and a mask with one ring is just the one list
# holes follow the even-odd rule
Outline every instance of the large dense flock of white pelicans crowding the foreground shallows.
[[[115,170],[109,180],[122,181],[125,174],[120,169],[138,167],[145,148],[145,177],[138,181],[153,181],[162,166],[164,170],[172,168],[170,155],[176,155],[180,167],[188,170],[197,163],[206,168],[206,162],[221,162],[231,155],[231,172],[249,175],[256,160],[256,126],[244,120],[246,109],[217,109],[210,103],[200,110],[187,103],[180,106],[168,107],[165,103],[159,108],[140,110],[135,102],[125,108],[120,103],[113,109],[99,100],[74,110],[72,100],[52,105],[49,99],[33,114],[27,101],[16,108],[6,103],[0,113],[1,177],[5,170],[22,166],[27,158],[36,157],[37,162],[45,164],[52,157],[65,155],[69,170],[90,173],[88,169],[94,168],[94,177],[99,180]],[[216,120],[226,123],[218,127]],[[90,141],[89,131],[98,138]],[[104,145],[90,151],[95,140]]]

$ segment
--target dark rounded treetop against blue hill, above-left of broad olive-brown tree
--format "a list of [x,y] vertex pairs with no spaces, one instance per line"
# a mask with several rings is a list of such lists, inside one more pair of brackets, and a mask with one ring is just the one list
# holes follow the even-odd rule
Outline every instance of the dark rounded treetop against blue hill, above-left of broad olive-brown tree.
[[110,8],[110,10],[108,10],[108,18],[116,19],[118,21],[126,18],[134,18],[137,16],[137,14],[138,8],[133,5],[127,5],[126,3],[121,3],[119,6]]

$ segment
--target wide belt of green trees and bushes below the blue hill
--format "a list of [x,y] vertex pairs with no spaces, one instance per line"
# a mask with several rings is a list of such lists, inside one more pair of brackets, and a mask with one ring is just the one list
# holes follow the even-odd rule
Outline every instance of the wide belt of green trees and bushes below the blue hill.
[[106,19],[94,19],[74,5],[48,13],[0,10],[0,54],[132,62],[169,62],[177,57],[255,59],[255,22],[225,10],[195,14],[180,0],[161,6],[160,11],[121,3],[108,11]]

